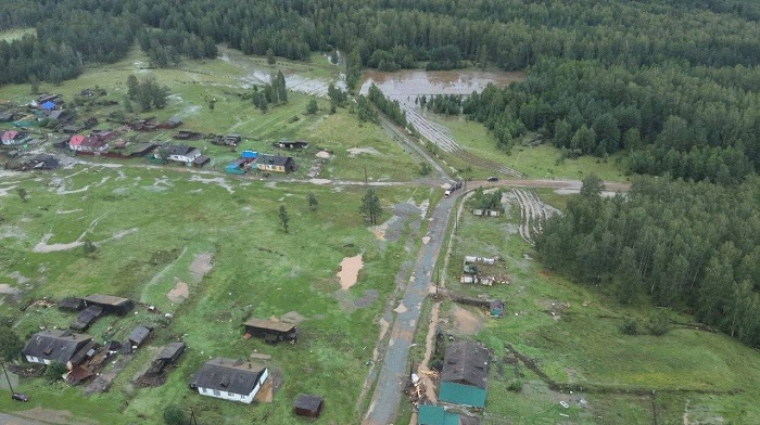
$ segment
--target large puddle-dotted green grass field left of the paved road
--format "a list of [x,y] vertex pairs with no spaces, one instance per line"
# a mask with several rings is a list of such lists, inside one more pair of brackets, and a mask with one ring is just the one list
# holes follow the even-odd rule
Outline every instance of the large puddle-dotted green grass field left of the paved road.
[[[18,188],[28,192],[27,202],[16,195]],[[411,188],[378,191],[385,207],[426,197]],[[308,192],[319,201],[317,211],[308,209]],[[0,314],[15,318],[20,335],[26,337],[39,326],[66,327],[73,320],[73,314],[36,306],[18,314],[20,302],[42,297],[105,293],[161,312],[138,307],[123,319],[100,319],[89,333],[101,343],[124,338],[139,323],[163,323],[163,313],[174,314],[109,392],[85,398],[76,388],[50,390],[42,378],[23,379],[20,389],[33,401],[13,403],[3,397],[0,410],[45,407],[69,410],[77,421],[156,423],[163,407],[174,402],[203,412],[199,421],[205,423],[270,417],[284,424],[297,423],[290,416],[295,395],[311,392],[326,397],[326,423],[355,423],[355,395],[379,332],[376,318],[394,287],[389,276],[410,256],[403,249],[403,237],[383,242],[368,230],[358,214],[364,189],[284,186],[189,176],[172,168],[76,166],[52,175],[3,178],[0,193],[0,283],[24,291],[17,302],[2,301]],[[291,218],[289,233],[280,227],[280,205]],[[46,234],[51,234],[47,244],[53,246],[84,234],[80,240],[94,242],[98,249],[91,256],[81,247],[33,253]],[[339,262],[356,254],[364,258],[359,281],[339,291]],[[199,255],[211,257],[205,276],[193,272]],[[189,286],[190,297],[182,304],[167,298],[178,281]],[[362,304],[366,306],[357,307],[357,300],[367,297]],[[242,338],[248,314],[269,318],[291,311],[305,318],[295,346]],[[169,381],[157,388],[134,388],[131,381],[147,366],[152,347],[178,338],[189,348]],[[210,356],[246,358],[254,351],[271,355],[269,366],[283,376],[273,403],[238,405],[187,389],[190,374]],[[74,404],[77,409],[71,409]],[[122,415],[114,416],[116,412]]]

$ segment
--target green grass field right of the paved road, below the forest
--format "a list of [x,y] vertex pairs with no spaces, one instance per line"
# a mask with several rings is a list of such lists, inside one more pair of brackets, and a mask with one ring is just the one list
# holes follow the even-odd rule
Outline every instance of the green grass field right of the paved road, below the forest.
[[[517,233],[518,223],[517,207],[508,208],[501,218],[465,214],[446,269],[449,289],[502,299],[507,306],[501,319],[474,313],[483,327],[473,337],[494,355],[486,424],[502,423],[498,418],[504,417],[519,424],[649,424],[655,414],[658,423],[674,424],[684,423],[685,412],[688,423],[760,422],[760,408],[753,402],[760,395],[757,351],[726,335],[685,326],[674,326],[660,337],[621,334],[624,318],[643,322],[660,310],[647,305],[620,306],[604,291],[591,291],[544,270]],[[511,283],[491,287],[460,284],[465,255],[502,257]],[[689,321],[666,313],[673,322]],[[552,381],[587,390],[556,392],[523,363],[515,370],[507,362],[505,342],[533,359]],[[521,392],[508,390],[515,379],[522,382]],[[585,409],[575,405],[581,397],[588,402]],[[562,408],[561,400],[570,408]]]

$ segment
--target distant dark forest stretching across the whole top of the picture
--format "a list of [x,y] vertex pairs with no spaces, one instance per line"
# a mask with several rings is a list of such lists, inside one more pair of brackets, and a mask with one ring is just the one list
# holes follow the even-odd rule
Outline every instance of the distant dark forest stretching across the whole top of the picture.
[[[686,0],[8,3],[0,13],[0,29],[34,26],[42,46],[67,46],[83,61],[91,62],[123,57],[138,33],[142,49],[159,66],[167,56],[166,64],[170,64],[176,53],[211,57],[215,54],[212,44],[219,42],[249,54],[271,51],[294,60],[306,60],[313,51],[339,49],[353,54],[354,69],[359,64],[388,70],[420,64],[430,69],[489,64],[523,69],[544,57],[626,67],[669,61],[705,67],[755,66],[760,60],[760,4],[750,0],[720,4]],[[8,48],[16,41],[3,42]],[[31,57],[30,52],[13,52],[12,56],[16,61]],[[37,52],[52,53],[41,47]],[[30,70],[39,68],[15,65],[13,69],[16,77],[10,81],[26,80]]]

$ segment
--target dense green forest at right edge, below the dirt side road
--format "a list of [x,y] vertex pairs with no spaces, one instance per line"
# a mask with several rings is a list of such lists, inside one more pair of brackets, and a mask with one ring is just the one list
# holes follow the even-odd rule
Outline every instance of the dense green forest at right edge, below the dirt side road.
[[760,347],[760,180],[725,188],[639,178],[603,198],[590,177],[563,215],[546,220],[535,248],[550,268],[620,302],[694,314]]

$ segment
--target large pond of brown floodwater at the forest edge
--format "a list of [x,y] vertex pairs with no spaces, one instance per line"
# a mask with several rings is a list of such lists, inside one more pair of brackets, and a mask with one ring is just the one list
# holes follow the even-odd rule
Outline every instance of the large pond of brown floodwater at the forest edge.
[[470,94],[482,91],[489,82],[504,87],[525,78],[521,72],[493,70],[419,70],[395,73],[367,70],[359,93],[366,94],[373,82],[390,98],[422,94]]

